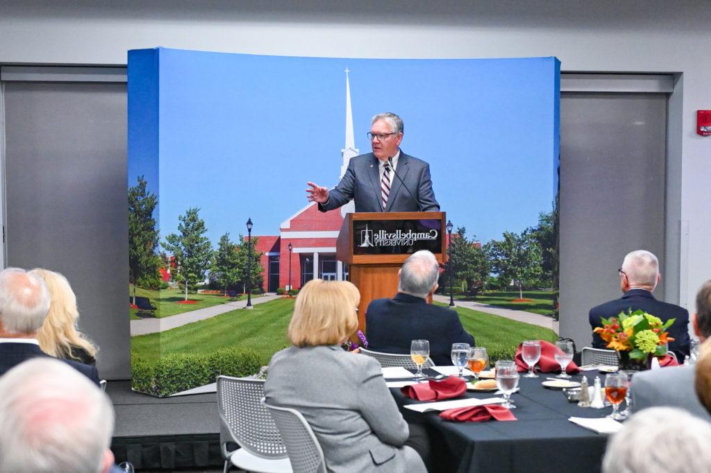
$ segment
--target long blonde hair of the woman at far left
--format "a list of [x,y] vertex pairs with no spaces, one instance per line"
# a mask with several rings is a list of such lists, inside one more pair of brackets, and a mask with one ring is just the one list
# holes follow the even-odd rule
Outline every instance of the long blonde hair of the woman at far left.
[[42,351],[57,358],[78,359],[73,356],[72,347],[80,347],[94,357],[97,347],[77,331],[77,296],[67,278],[41,268],[33,269],[30,273],[43,279],[51,299],[47,318],[37,332]]

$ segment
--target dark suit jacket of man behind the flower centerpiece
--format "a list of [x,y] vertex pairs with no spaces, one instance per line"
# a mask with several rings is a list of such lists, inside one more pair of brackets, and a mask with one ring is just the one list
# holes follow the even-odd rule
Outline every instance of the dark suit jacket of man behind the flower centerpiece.
[[[676,354],[679,361],[684,361],[684,357],[689,354],[689,312],[678,305],[669,304],[656,300],[651,292],[644,289],[630,289],[624,295],[615,300],[598,305],[590,309],[589,320],[592,328],[601,327],[601,317],[606,319],[619,315],[620,312],[628,310],[643,310],[663,322],[669,319],[676,319],[669,327],[669,336],[674,339],[670,342],[669,349]],[[597,333],[592,334],[592,347],[605,348],[605,342]]]

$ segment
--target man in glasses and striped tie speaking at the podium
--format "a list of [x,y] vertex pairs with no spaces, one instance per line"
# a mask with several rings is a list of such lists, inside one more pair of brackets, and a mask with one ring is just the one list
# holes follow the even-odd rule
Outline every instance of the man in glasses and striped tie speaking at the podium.
[[[337,209],[355,200],[355,212],[439,212],[429,164],[400,151],[402,119],[391,113],[373,116],[373,153],[351,158],[341,182],[330,191],[307,183],[309,201],[319,210]],[[404,188],[403,188],[404,187]]]

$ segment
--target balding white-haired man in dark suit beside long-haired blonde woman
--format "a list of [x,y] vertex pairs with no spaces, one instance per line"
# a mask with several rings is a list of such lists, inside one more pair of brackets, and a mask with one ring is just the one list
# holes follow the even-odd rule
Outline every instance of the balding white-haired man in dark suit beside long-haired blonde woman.
[[[40,278],[20,268],[0,273],[0,376],[23,361],[50,357],[40,349],[37,331],[47,317],[50,295]],[[63,360],[99,384],[95,366]]]

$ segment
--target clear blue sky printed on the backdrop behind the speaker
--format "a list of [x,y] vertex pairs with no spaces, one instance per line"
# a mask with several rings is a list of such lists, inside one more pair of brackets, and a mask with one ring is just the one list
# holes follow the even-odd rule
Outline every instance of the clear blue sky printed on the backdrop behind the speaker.
[[[555,58],[153,51],[143,59],[129,55],[129,185],[146,175],[159,194],[163,236],[176,232],[178,215],[193,206],[201,208],[213,244],[225,232],[232,239],[245,234],[248,217],[253,234],[278,234],[279,224],[306,205],[307,180],[336,185],[346,67],[360,153],[370,152],[365,133],[371,116],[402,116],[402,151],[429,163],[442,210],[469,237],[486,242],[505,230],[520,232],[551,209],[558,149]],[[141,60],[150,67],[138,67]],[[154,81],[157,102],[132,94],[132,81],[138,87],[139,80]],[[157,123],[146,119],[154,116],[154,103]],[[146,147],[156,130],[159,156],[155,146]]]

